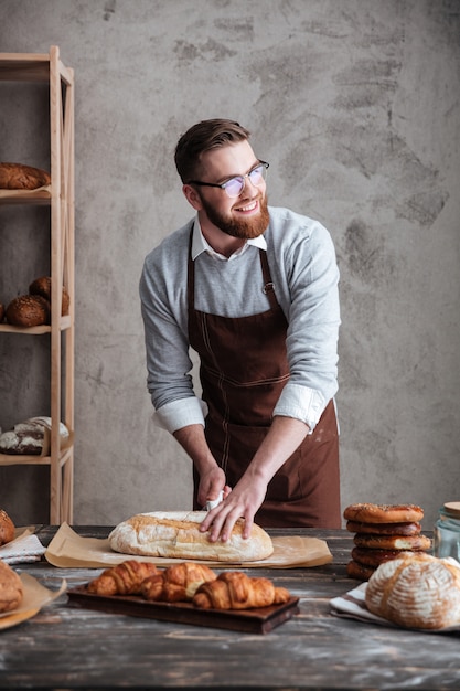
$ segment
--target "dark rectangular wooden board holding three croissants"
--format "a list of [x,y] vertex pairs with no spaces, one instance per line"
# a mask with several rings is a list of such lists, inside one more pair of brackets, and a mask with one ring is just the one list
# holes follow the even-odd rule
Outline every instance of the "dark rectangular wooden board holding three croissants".
[[86,585],[67,591],[73,607],[98,609],[108,614],[122,614],[176,624],[192,624],[211,628],[225,628],[248,634],[268,634],[298,614],[298,597],[282,605],[259,609],[199,609],[190,603],[151,603],[139,595],[101,596],[88,593]]

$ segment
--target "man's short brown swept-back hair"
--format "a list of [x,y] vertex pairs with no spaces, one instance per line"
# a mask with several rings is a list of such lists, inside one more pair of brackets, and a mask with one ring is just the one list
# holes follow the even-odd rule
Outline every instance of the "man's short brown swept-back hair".
[[190,182],[200,168],[205,151],[248,139],[250,132],[234,120],[214,118],[193,125],[178,141],[175,168],[183,183]]

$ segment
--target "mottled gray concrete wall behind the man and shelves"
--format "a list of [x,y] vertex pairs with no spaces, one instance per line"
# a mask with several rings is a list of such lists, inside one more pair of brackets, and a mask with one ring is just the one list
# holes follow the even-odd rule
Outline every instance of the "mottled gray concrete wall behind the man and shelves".
[[[254,132],[270,203],[335,242],[343,506],[419,503],[429,529],[460,499],[459,17],[458,0],[2,0],[0,50],[56,44],[76,75],[75,523],[191,506],[190,463],[151,422],[138,279],[191,215],[175,142],[216,116]],[[39,164],[45,114],[8,89],[0,159]],[[2,208],[2,301],[41,267],[46,213]],[[3,429],[42,412],[21,372],[43,347],[12,338]],[[46,521],[46,474],[0,470],[0,506]]]

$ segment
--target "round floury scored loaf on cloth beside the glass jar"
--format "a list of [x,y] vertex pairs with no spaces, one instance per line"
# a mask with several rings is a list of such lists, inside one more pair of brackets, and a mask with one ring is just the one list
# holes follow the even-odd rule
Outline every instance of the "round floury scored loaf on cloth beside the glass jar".
[[429,554],[405,553],[371,576],[366,606],[409,628],[439,629],[460,624],[460,564]]

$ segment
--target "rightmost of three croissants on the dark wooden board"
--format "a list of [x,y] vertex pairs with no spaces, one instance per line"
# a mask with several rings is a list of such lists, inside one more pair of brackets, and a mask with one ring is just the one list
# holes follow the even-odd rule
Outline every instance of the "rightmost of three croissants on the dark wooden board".
[[240,571],[226,571],[212,583],[199,587],[193,604],[201,609],[250,609],[288,602],[289,591],[268,578],[249,577]]

